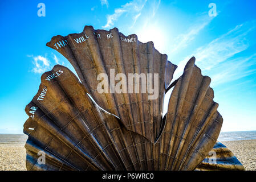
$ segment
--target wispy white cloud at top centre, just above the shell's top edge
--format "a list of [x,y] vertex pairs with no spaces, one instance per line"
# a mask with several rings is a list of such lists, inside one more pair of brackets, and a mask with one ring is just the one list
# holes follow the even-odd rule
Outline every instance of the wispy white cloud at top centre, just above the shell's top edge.
[[143,7],[145,5],[145,1],[131,1],[126,3],[125,5],[121,5],[120,8],[115,9],[115,13],[111,15],[107,15],[107,23],[102,26],[103,28],[109,28],[113,26],[114,22],[119,19],[121,15],[124,13],[129,14],[129,16],[132,16],[133,23],[135,24],[137,21],[137,18],[141,15],[141,11],[143,10]]

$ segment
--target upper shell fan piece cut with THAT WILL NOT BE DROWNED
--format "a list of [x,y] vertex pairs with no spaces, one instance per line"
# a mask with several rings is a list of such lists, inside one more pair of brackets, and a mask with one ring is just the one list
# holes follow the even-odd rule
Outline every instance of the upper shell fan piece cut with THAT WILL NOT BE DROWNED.
[[[124,36],[117,28],[105,31],[86,26],[81,34],[53,37],[47,46],[70,61],[99,106],[117,115],[128,130],[155,142],[160,132],[165,89],[177,66],[159,53],[153,42],[141,43],[135,34]],[[149,100],[149,94],[142,93],[141,87],[139,93],[135,90],[128,93],[128,88],[127,93],[99,93],[97,85],[101,80],[97,80],[97,76],[105,73],[110,80],[111,69],[115,74],[124,73],[127,78],[131,73],[152,73],[153,80],[153,74],[159,74],[159,85],[154,81],[152,84],[152,88],[158,87],[159,97]],[[109,84],[108,92],[111,86]]]

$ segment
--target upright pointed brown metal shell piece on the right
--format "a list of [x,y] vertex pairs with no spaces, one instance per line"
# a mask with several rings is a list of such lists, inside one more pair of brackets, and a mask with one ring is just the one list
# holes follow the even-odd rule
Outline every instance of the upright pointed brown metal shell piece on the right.
[[160,141],[161,170],[193,170],[213,148],[222,117],[213,101],[210,78],[192,57],[170,96]]

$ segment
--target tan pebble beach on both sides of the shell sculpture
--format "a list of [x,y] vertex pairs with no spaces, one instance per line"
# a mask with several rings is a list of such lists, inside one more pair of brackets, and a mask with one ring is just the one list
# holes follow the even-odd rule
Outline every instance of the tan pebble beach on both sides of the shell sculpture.
[[[0,140],[0,171],[25,171],[26,170],[26,135],[13,139]],[[246,170],[256,171],[256,140],[235,140],[221,142],[229,148]]]

